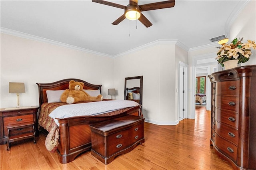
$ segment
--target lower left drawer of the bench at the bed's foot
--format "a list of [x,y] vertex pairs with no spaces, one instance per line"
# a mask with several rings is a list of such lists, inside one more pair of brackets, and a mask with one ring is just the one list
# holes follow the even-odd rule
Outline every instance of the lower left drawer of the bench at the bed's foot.
[[129,140],[123,139],[119,140],[118,142],[111,144],[107,147],[108,152],[106,152],[106,157],[111,156],[112,154],[115,154],[119,152],[120,150],[126,149],[127,146],[129,146]]

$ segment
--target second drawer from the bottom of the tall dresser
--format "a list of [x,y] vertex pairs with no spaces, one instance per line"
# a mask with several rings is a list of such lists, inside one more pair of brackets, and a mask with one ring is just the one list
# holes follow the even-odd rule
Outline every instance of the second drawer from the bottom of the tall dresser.
[[215,132],[226,140],[238,145],[238,130],[216,121]]

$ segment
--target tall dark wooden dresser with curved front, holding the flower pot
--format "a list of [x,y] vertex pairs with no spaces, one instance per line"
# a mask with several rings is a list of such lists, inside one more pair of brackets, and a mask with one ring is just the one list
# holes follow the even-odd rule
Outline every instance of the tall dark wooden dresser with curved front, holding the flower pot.
[[234,169],[256,169],[256,65],[208,75],[212,83],[211,138]]

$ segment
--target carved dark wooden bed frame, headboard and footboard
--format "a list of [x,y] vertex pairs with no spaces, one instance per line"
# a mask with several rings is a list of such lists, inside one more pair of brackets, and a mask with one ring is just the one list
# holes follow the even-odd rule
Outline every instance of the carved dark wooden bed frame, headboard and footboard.
[[[63,79],[53,83],[36,83],[39,90],[40,107],[47,103],[46,90],[65,90],[68,89],[69,81],[83,82],[84,89],[100,90],[102,85],[93,85],[80,79]],[[89,125],[115,119],[125,115],[142,116],[141,105],[131,107],[130,109],[117,113],[115,115],[97,115],[97,116],[77,116],[58,119],[60,130],[60,142],[57,148],[57,154],[60,163],[72,162],[78,154],[91,149],[91,130]],[[41,129],[41,128],[40,128]]]

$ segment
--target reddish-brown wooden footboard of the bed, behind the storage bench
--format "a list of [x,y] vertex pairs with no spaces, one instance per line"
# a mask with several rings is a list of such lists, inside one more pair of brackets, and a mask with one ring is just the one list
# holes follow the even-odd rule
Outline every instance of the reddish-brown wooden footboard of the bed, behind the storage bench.
[[133,107],[124,113],[113,116],[87,116],[59,119],[60,144],[58,145],[57,153],[60,163],[72,162],[78,154],[91,150],[91,130],[89,125],[125,115],[142,116],[141,106]]

